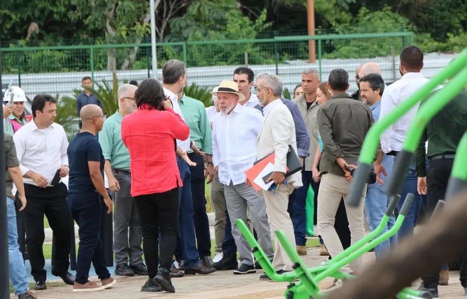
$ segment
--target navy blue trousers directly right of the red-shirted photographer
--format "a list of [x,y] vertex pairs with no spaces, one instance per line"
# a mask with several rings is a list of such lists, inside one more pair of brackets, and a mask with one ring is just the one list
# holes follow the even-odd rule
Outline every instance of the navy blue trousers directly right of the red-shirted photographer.
[[[178,170],[182,178],[183,187],[179,188],[180,210],[178,214],[178,234],[176,257],[181,252],[181,259],[185,268],[191,268],[200,262],[196,249],[193,199],[191,197],[191,173],[187,162],[177,156]],[[178,257],[177,257],[178,258]]]

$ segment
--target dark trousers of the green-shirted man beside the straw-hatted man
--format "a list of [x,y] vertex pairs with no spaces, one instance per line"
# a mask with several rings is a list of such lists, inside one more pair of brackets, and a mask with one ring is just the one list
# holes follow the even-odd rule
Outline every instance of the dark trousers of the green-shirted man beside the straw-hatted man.
[[190,166],[191,195],[193,198],[193,212],[195,234],[200,259],[211,256],[211,235],[209,233],[209,219],[206,213],[206,196],[204,185],[204,160],[196,154],[189,154],[190,160],[196,166]]

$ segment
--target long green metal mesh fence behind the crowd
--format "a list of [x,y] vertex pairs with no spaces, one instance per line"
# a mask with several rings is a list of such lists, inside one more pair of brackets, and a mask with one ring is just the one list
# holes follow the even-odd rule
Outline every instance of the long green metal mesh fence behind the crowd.
[[[386,81],[396,79],[395,57],[404,45],[413,43],[412,32],[275,36],[252,40],[188,41],[157,44],[158,74],[169,59],[188,66],[188,80],[215,86],[232,78],[235,67],[248,65],[255,73],[272,71],[293,88],[306,67],[316,67],[322,79],[333,68],[353,72],[360,63],[375,61]],[[312,40],[312,42],[310,42]],[[316,61],[309,62],[309,45],[314,44]],[[2,48],[3,82],[14,80],[29,97],[37,93],[72,95],[81,78],[140,81],[152,75],[151,44],[95,44],[76,46]]]

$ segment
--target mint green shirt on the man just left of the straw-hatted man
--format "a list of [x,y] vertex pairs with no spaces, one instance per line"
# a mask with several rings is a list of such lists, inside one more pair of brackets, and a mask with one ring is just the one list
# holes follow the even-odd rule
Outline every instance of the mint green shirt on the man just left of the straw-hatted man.
[[[212,155],[212,131],[204,104],[194,98],[183,95],[178,100],[186,124],[190,127],[190,140],[202,152]],[[190,149],[189,153],[193,152]]]

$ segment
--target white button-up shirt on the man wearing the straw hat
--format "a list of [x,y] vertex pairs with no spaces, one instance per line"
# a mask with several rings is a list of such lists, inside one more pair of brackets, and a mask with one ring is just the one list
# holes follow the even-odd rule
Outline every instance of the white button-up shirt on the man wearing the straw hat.
[[212,161],[219,166],[219,182],[245,182],[245,171],[256,160],[256,140],[263,124],[261,112],[237,104],[227,115],[217,113],[212,122]]

